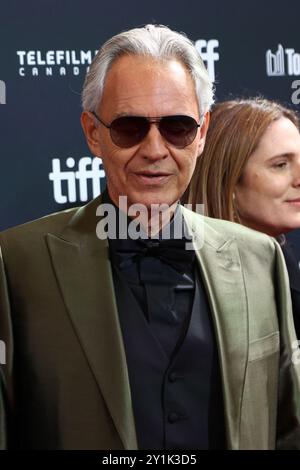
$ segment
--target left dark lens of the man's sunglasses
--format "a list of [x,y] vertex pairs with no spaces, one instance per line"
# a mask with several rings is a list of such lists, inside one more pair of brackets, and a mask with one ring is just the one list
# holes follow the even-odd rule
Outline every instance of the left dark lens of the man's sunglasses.
[[129,148],[144,139],[149,127],[150,124],[144,117],[124,116],[111,123],[110,135],[118,147]]

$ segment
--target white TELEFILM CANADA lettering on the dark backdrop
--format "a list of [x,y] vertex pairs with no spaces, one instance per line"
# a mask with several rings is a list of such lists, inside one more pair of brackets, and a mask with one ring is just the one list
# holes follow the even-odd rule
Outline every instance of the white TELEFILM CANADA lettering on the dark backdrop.
[[76,76],[86,73],[97,50],[19,50],[18,73],[28,76]]

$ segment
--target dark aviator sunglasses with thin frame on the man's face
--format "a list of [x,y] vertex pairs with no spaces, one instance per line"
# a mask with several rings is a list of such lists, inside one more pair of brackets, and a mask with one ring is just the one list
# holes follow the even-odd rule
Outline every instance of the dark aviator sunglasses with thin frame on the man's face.
[[190,145],[196,137],[200,124],[190,116],[162,116],[158,118],[144,116],[122,116],[105,124],[92,111],[95,118],[110,131],[111,140],[121,148],[139,144],[146,137],[151,124],[157,124],[160,134],[167,142],[177,148]]

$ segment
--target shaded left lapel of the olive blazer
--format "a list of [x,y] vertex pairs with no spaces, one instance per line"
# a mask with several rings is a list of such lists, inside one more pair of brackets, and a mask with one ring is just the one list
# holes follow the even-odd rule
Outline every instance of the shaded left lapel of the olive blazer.
[[96,237],[95,200],[47,243],[57,280],[89,366],[125,449],[137,449],[128,371],[108,243]]

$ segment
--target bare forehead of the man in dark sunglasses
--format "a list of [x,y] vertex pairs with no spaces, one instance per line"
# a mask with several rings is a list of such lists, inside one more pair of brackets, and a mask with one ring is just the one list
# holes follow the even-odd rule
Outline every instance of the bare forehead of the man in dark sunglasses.
[[111,119],[130,114],[194,115],[197,109],[194,82],[180,62],[122,56],[107,74],[99,112]]

